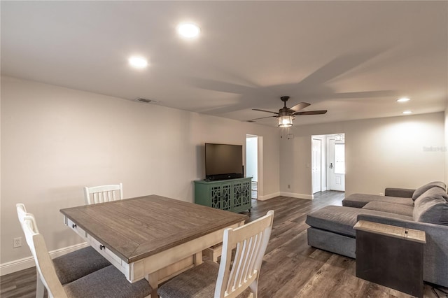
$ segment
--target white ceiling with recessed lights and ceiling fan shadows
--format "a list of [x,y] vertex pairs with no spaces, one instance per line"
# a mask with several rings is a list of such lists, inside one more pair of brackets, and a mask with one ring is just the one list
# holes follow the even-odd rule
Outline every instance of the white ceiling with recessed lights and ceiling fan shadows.
[[[447,1],[1,1],[1,74],[241,121],[283,95],[328,110],[295,125],[432,113],[447,15]],[[200,37],[180,38],[181,21]]]

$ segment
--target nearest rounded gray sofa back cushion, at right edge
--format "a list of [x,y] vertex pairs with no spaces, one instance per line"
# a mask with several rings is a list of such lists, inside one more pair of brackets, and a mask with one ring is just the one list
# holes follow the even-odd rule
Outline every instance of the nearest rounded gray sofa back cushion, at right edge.
[[448,225],[448,196],[440,187],[433,187],[414,201],[412,217],[416,222]]

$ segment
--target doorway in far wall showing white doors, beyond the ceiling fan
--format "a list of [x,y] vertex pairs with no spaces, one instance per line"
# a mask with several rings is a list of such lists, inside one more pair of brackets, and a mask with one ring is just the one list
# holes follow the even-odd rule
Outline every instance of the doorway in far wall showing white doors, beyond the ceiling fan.
[[345,191],[345,134],[311,136],[311,192]]

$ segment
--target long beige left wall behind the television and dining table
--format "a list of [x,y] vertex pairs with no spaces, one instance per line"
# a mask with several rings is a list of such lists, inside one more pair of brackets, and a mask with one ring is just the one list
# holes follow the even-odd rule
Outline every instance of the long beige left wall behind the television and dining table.
[[263,138],[265,195],[279,192],[279,131],[27,80],[1,80],[1,260],[22,236],[15,204],[36,215],[48,249],[80,243],[60,208],[84,204],[82,187],[123,183],[125,197],[160,194],[193,201],[204,178],[204,143],[244,145]]

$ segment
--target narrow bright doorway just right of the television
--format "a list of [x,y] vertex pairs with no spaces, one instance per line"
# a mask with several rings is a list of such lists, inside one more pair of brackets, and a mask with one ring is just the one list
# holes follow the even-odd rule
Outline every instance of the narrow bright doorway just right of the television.
[[252,177],[252,199],[258,199],[258,136],[252,134],[246,134],[246,177]]

